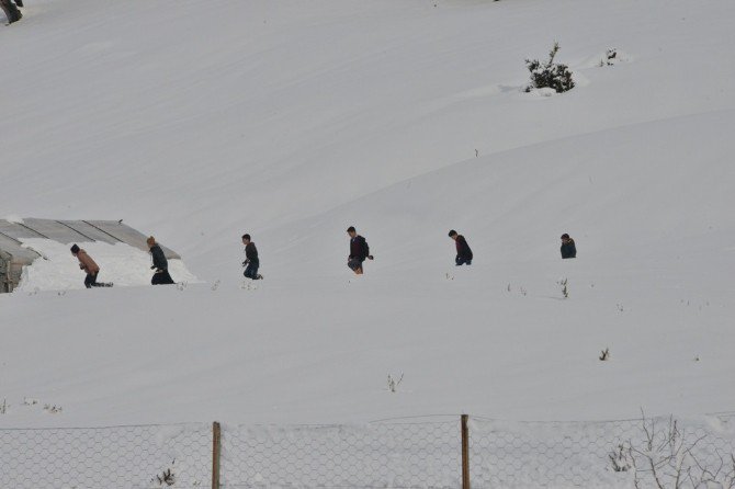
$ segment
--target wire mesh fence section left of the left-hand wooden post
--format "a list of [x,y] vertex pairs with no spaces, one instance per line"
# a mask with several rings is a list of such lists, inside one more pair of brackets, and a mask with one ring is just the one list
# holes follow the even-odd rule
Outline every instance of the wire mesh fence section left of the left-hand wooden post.
[[208,424],[0,430],[2,489],[201,488],[211,474]]

